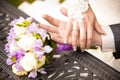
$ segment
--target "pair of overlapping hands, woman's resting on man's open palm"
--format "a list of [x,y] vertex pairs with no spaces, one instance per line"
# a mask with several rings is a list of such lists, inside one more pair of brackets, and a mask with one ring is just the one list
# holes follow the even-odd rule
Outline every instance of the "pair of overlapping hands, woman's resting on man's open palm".
[[[67,16],[67,9],[61,8],[61,12]],[[81,51],[93,45],[101,46],[101,35],[105,34],[96,20],[91,7],[83,13],[82,25],[76,22],[73,18],[68,17],[68,21],[55,19],[47,14],[42,17],[48,21],[50,25],[39,24],[39,26],[47,30],[51,38],[62,44],[70,44],[73,50],[76,51],[80,47]]]

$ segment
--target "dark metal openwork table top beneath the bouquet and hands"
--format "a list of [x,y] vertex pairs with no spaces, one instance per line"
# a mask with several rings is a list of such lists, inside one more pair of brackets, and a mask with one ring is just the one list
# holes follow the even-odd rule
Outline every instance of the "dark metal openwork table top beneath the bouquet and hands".
[[[6,0],[0,0],[0,80],[32,80],[18,77],[6,64],[5,37],[11,20],[19,16],[28,17]],[[46,75],[39,74],[35,80],[119,80],[120,73],[88,52],[64,51],[59,58],[53,58],[46,68]]]

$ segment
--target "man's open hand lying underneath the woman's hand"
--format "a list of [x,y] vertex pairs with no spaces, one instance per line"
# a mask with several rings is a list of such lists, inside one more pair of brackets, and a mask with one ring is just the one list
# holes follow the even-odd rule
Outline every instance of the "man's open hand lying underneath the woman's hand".
[[[64,44],[63,37],[61,35],[64,35],[64,30],[66,29],[67,22],[55,19],[55,18],[53,18],[49,15],[46,15],[46,14],[43,15],[43,18],[47,22],[49,22],[51,24],[51,26],[40,23],[39,27],[47,30],[50,33],[52,40],[54,40],[58,43]],[[100,27],[100,25],[98,25],[98,23],[96,23],[95,26]],[[93,30],[93,31],[94,31],[94,36],[93,36],[93,41],[92,41],[91,45],[92,46],[93,45],[101,46],[101,44],[102,44],[101,35],[98,32],[96,32],[95,30]],[[72,36],[70,35],[67,44],[72,45],[71,38],[72,38]],[[80,43],[79,39],[77,40],[78,47],[79,47],[79,43]]]

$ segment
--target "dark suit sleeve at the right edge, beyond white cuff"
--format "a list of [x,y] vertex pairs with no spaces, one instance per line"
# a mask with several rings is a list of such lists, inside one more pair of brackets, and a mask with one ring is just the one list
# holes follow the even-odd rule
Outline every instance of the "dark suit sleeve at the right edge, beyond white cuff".
[[112,29],[116,52],[113,53],[115,59],[120,59],[120,24],[110,25]]

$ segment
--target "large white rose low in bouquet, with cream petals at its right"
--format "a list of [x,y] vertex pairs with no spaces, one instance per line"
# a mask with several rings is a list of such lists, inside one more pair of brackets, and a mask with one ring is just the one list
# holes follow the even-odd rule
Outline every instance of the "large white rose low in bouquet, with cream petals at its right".
[[35,54],[29,52],[25,54],[23,59],[20,61],[20,64],[25,71],[29,72],[31,70],[37,70],[43,66],[45,64],[45,56],[42,56],[39,61],[40,62],[38,63]]

